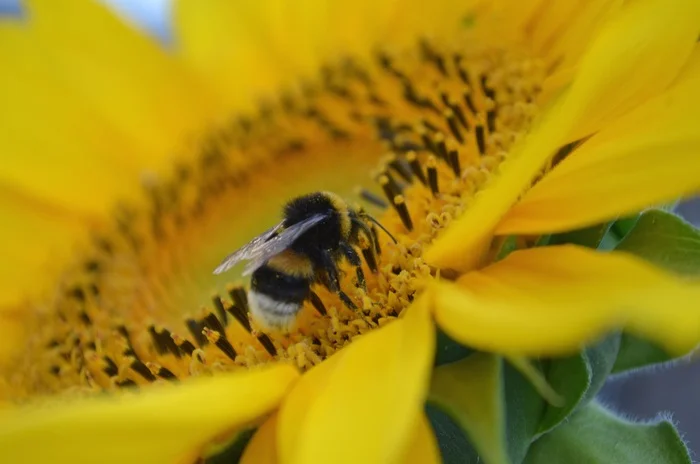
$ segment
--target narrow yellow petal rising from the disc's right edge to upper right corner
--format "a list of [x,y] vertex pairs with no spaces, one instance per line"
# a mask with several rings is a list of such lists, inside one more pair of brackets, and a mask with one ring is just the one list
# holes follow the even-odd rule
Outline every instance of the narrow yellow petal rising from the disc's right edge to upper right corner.
[[570,89],[543,113],[466,212],[426,250],[431,264],[460,271],[478,266],[500,219],[570,139],[568,134],[574,129],[578,136],[588,134],[668,86],[693,50],[700,18],[700,2],[677,3],[669,8],[665,0],[628,2],[601,28]]

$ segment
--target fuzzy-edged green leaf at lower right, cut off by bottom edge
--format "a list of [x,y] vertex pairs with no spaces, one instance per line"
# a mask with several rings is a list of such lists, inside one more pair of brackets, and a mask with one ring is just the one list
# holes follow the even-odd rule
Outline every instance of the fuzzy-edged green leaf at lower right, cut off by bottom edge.
[[525,464],[690,464],[673,425],[637,424],[592,403],[530,447]]

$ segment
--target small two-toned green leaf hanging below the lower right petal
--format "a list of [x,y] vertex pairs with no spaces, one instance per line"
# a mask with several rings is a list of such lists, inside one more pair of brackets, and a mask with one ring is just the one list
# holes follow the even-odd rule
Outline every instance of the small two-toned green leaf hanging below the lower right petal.
[[549,361],[547,380],[564,403],[547,406],[539,434],[551,431],[595,397],[612,372],[619,347],[620,335],[612,334],[575,355]]

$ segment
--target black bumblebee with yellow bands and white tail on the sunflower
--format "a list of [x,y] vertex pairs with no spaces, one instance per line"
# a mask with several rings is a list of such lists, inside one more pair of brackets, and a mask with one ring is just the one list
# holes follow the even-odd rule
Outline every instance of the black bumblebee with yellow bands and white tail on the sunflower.
[[[214,270],[221,274],[248,261],[243,275],[252,274],[248,306],[253,318],[267,330],[289,331],[305,301],[322,315],[321,299],[311,290],[321,284],[336,293],[343,304],[357,306],[340,288],[342,260],[355,268],[357,285],[366,288],[360,249],[367,266],[377,271],[380,253],[375,225],[396,239],[362,209],[350,207],[331,192],[315,192],[290,200],[284,219],[227,256]],[[363,242],[365,248],[361,247]],[[366,246],[366,244],[369,246]]]

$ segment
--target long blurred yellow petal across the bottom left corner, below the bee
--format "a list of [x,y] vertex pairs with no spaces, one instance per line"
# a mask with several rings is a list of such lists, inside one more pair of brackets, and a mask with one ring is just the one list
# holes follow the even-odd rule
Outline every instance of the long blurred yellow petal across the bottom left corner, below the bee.
[[0,414],[0,461],[194,462],[202,448],[277,407],[289,366],[221,374],[141,393]]

